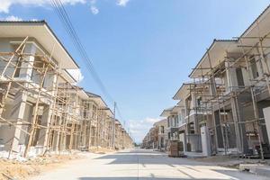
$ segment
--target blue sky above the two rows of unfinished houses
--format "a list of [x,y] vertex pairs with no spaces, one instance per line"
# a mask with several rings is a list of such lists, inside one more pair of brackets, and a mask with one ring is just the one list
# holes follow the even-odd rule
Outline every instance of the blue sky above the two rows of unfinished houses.
[[[211,41],[239,36],[269,4],[266,0],[62,1],[136,141],[164,108],[176,103],[172,96]],[[84,75],[80,85],[102,94],[49,0],[0,0],[0,18],[45,19],[80,65]]]

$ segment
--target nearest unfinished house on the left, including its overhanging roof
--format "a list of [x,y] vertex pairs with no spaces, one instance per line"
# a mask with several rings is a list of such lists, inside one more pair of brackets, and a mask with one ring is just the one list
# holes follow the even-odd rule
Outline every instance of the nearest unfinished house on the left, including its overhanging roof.
[[1,143],[14,152],[44,147],[48,130],[41,126],[50,122],[58,75],[78,66],[45,22],[0,22],[0,32],[0,112],[1,120],[8,120],[1,125]]

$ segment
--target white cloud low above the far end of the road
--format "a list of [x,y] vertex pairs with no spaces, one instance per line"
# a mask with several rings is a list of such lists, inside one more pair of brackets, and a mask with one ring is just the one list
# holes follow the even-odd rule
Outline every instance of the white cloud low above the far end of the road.
[[153,124],[160,121],[160,118],[145,118],[143,120],[130,120],[130,133],[135,142],[141,142],[148,130],[153,127]]

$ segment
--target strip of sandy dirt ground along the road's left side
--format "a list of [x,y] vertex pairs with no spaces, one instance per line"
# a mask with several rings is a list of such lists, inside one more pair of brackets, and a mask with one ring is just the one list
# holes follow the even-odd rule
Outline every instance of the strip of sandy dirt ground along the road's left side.
[[73,163],[73,161],[100,156],[112,152],[108,148],[91,148],[88,152],[72,151],[61,154],[50,153],[46,156],[31,157],[30,159],[0,158],[0,180],[29,179],[33,175],[50,172],[53,169]]

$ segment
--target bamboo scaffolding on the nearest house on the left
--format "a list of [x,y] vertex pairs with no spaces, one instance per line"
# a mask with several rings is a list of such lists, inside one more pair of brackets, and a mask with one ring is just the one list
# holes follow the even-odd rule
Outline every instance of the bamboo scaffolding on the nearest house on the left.
[[[49,121],[49,113],[56,96],[56,79],[50,78],[60,75],[60,69],[52,59],[53,51],[49,56],[41,50],[32,52],[28,39],[26,37],[22,43],[14,44],[14,52],[0,53],[1,124],[14,127],[14,137],[5,143],[10,144],[11,154],[14,145],[21,139],[20,133],[24,132],[24,157],[31,146],[39,143],[38,133],[44,133],[43,141],[48,138],[46,123]],[[10,102],[16,103],[14,107],[10,107],[13,105]],[[24,112],[28,104],[32,109],[28,114],[29,118],[26,119]],[[11,108],[14,108],[15,112],[9,112]]]

